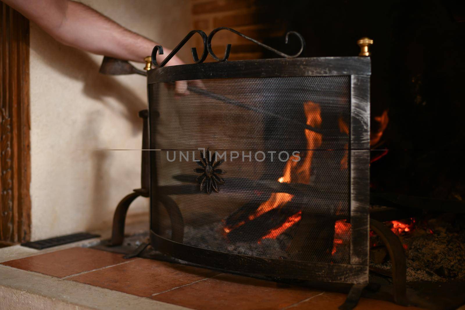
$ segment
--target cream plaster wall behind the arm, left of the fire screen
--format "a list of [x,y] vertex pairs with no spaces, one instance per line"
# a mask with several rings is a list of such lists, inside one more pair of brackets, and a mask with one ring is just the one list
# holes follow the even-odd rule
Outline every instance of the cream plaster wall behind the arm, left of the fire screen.
[[[166,47],[191,30],[186,0],[82,2]],[[102,75],[102,56],[30,27],[32,240],[110,227],[120,199],[140,187],[140,151],[96,149],[140,149],[146,79]],[[188,46],[180,56],[190,61]],[[138,198],[126,221],[147,214]]]

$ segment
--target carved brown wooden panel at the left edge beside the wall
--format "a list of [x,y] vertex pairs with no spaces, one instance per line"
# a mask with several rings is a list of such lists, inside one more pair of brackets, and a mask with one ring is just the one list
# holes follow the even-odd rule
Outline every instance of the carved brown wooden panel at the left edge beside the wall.
[[29,20],[0,2],[0,241],[30,237]]

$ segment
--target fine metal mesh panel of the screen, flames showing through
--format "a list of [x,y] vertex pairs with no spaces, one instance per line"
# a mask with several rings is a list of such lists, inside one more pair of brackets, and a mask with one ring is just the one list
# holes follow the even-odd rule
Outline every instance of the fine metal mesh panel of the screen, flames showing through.
[[[152,206],[160,236],[175,229],[184,231],[183,243],[215,251],[350,262],[350,77],[149,87],[158,192],[183,218],[172,227],[165,206]],[[225,159],[218,192],[196,182],[199,148]]]

